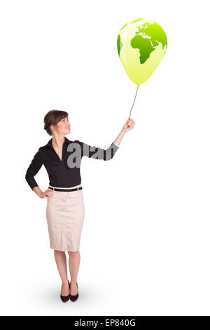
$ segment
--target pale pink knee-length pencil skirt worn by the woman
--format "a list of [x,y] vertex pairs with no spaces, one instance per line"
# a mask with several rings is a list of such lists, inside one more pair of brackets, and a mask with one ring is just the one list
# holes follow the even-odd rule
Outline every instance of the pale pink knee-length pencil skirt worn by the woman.
[[[81,187],[76,185],[69,188]],[[51,185],[50,188],[53,189]],[[53,191],[48,197],[46,218],[50,238],[50,249],[58,251],[79,251],[80,237],[85,218],[83,190],[71,192]]]

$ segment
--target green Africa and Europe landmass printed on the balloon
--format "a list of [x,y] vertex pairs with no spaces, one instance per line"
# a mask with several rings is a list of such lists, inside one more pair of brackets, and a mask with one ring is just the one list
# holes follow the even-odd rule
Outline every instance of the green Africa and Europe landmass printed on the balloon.
[[[139,33],[143,33],[145,37],[142,37]],[[159,43],[162,44],[162,49],[167,46],[166,34],[162,27],[155,22],[152,24],[148,22],[144,23],[143,27],[138,27],[136,34],[130,44],[132,48],[139,48],[141,64],[146,62],[152,51],[155,51],[155,46],[158,46]],[[146,37],[150,37],[150,39]]]

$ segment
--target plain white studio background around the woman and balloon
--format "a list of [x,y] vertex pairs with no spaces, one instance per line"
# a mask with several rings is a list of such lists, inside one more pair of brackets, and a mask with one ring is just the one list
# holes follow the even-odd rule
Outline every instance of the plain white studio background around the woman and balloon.
[[[1,1],[1,315],[210,315],[207,1]],[[137,86],[117,51],[121,27],[152,18],[168,48],[139,86],[111,161],[83,157],[79,298],[64,304],[46,199],[25,172],[49,110],[70,140],[103,148]],[[48,187],[44,166],[36,175]]]

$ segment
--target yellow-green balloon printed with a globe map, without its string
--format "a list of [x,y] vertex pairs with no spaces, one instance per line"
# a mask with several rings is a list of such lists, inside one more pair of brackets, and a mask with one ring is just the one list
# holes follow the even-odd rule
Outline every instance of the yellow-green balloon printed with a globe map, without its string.
[[118,55],[137,86],[157,69],[167,50],[167,36],[158,23],[146,18],[129,22],[118,34]]

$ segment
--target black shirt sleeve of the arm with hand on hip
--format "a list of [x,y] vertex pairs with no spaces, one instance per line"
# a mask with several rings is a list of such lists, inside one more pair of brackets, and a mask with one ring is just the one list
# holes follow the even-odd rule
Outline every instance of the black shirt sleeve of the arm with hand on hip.
[[41,154],[41,147],[38,149],[38,152],[34,155],[34,158],[31,161],[31,164],[29,165],[27,172],[25,174],[25,179],[27,180],[27,183],[31,187],[31,190],[33,190],[34,187],[38,187],[38,184],[36,183],[36,180],[34,179],[34,176],[36,176],[36,173],[41,169],[41,166],[43,164],[43,157]]

